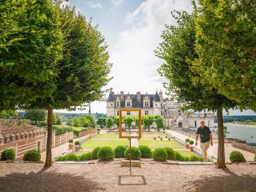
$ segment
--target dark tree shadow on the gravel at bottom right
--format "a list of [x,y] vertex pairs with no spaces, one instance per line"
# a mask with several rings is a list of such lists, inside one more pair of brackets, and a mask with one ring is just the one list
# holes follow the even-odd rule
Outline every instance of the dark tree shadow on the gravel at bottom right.
[[200,176],[198,180],[190,182],[184,187],[190,187],[196,191],[216,191],[216,192],[255,192],[256,190],[256,176],[255,175],[237,175],[234,172],[224,169],[228,175],[212,176],[209,172],[208,175]]

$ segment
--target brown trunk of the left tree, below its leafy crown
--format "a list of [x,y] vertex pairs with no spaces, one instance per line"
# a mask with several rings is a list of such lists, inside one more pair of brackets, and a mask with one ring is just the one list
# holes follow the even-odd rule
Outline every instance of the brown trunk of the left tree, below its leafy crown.
[[48,109],[46,160],[44,167],[52,166],[52,109]]

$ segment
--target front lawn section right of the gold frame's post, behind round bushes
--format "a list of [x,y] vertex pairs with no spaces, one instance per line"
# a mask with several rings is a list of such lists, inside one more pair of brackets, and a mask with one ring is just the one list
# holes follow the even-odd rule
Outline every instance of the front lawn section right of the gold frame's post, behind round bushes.
[[167,141],[161,141],[161,140],[139,140],[139,145],[146,145],[150,149],[155,148],[164,148],[164,147],[170,147],[173,149],[184,149],[184,147],[180,146],[178,143],[167,140]]

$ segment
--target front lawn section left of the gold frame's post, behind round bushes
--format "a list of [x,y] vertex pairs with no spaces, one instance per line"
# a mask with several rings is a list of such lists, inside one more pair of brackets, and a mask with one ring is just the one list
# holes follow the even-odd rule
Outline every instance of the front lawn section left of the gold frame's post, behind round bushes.
[[114,149],[118,145],[129,145],[128,139],[126,140],[89,140],[82,143],[83,149],[94,149],[96,147],[109,146]]

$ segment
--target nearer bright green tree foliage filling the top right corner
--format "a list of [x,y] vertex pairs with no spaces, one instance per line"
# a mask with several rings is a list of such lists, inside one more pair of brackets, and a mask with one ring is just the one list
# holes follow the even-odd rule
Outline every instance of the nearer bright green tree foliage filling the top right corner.
[[256,112],[255,0],[200,0],[192,71],[240,109]]

